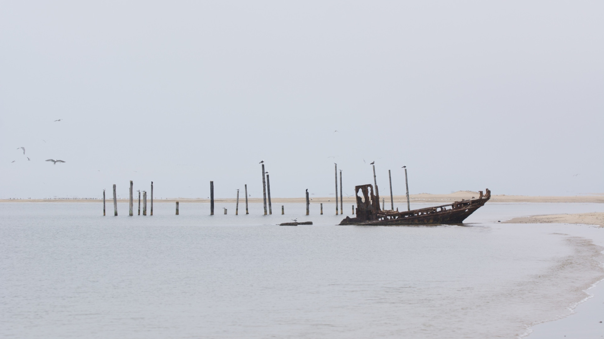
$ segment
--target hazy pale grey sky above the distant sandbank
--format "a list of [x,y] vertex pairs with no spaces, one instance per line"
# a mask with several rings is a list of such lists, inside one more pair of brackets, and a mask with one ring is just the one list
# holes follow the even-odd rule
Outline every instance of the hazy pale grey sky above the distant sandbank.
[[128,180],[153,180],[158,197],[207,197],[210,180],[217,197],[245,183],[260,197],[262,159],[273,197],[325,196],[329,156],[349,194],[373,181],[373,160],[394,194],[402,165],[411,193],[604,192],[603,13],[602,1],[4,1],[0,198],[114,183],[125,196]]

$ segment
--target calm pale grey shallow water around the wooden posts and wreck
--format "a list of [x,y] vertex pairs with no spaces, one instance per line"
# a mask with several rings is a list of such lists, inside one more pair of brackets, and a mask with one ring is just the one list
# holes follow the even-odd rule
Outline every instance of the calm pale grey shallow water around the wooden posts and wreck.
[[[100,203],[0,204],[0,335],[514,338],[603,277],[586,240],[603,229],[496,223],[602,204],[487,204],[435,227],[334,226],[333,204],[309,217],[304,204],[268,217],[242,206],[102,217]],[[291,218],[315,224],[274,226]]]

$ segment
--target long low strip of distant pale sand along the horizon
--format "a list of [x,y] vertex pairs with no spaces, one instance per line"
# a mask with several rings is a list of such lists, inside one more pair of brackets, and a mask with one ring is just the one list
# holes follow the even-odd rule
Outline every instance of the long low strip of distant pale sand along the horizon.
[[[467,200],[472,197],[478,197],[478,192],[473,191],[458,191],[451,194],[410,194],[409,200],[413,203],[437,203],[437,204],[449,204],[454,201],[461,201],[462,199]],[[390,202],[390,195],[383,196],[387,203]],[[51,202],[69,202],[69,203],[88,203],[102,201],[103,198],[51,198],[51,199],[0,199],[0,203],[24,203],[24,202],[36,202],[36,203],[51,203]],[[112,197],[107,197],[106,201],[112,201]],[[134,200],[138,200],[138,197],[134,197]],[[147,197],[149,200],[149,197]],[[234,203],[236,198],[214,198],[216,203]],[[406,203],[405,195],[394,195],[394,203]],[[118,198],[118,202],[128,202],[129,198]],[[209,203],[210,199],[202,198],[155,198],[154,202],[167,202],[173,203],[180,201],[182,203]],[[355,197],[344,197],[344,203],[356,203]],[[569,196],[529,196],[529,195],[492,195],[490,202],[496,203],[604,203],[604,194],[590,194],[590,195],[569,195]],[[245,203],[245,197],[239,198],[239,203]],[[262,203],[263,198],[248,198],[249,203]],[[306,198],[271,198],[272,203],[305,203]],[[335,197],[312,197],[310,198],[311,203],[335,203]],[[339,202],[339,198],[338,198]]]

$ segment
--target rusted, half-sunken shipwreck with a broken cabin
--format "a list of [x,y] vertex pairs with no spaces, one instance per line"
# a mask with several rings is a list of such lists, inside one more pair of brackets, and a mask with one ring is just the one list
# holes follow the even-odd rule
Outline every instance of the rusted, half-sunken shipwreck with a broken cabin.
[[[359,196],[361,192],[362,197]],[[452,204],[414,209],[399,212],[382,210],[379,206],[379,195],[373,194],[372,185],[355,186],[356,217],[346,217],[340,225],[429,225],[429,224],[461,224],[474,211],[490,199],[490,191],[486,194],[480,191],[478,198],[455,201]]]

